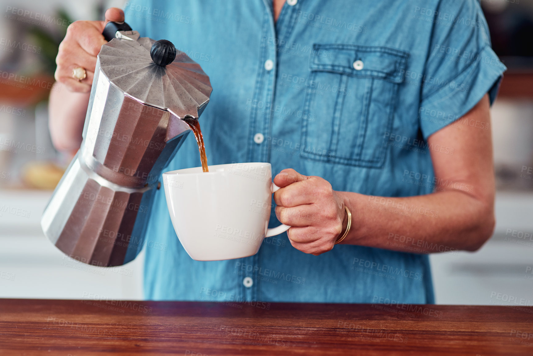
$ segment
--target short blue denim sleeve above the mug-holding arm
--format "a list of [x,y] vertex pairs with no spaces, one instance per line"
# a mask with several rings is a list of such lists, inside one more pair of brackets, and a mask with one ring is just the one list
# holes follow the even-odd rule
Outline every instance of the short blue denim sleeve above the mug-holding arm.
[[477,0],[441,0],[423,77],[419,123],[424,139],[464,116],[488,93],[490,104],[507,69],[490,46]]

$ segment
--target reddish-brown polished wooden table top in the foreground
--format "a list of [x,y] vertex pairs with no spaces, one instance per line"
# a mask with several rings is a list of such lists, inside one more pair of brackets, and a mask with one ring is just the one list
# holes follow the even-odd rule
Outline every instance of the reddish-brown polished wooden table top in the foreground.
[[533,355],[533,307],[0,299],[0,355]]

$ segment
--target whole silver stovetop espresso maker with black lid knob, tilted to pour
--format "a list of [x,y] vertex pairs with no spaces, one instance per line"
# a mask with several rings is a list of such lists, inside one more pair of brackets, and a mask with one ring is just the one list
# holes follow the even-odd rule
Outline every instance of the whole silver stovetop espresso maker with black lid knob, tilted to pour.
[[65,254],[96,266],[133,260],[143,246],[161,170],[211,95],[209,77],[165,40],[109,22],[76,156],[41,226]]

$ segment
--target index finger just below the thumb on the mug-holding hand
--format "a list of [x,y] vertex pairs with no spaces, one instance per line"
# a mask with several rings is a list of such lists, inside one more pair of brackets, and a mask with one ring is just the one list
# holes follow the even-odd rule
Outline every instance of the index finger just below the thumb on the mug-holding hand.
[[274,202],[276,205],[287,208],[312,204],[319,199],[327,198],[327,189],[328,185],[324,181],[316,177],[309,177],[309,179],[297,181],[279,189],[274,193]]

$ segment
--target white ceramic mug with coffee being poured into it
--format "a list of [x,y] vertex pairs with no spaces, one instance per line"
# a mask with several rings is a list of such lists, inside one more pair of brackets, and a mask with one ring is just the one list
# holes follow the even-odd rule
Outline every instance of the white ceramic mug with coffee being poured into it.
[[163,173],[168,211],[177,237],[192,259],[214,261],[255,255],[265,237],[290,226],[268,228],[270,163],[231,163]]

